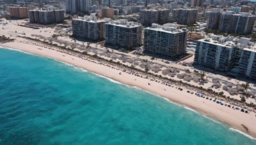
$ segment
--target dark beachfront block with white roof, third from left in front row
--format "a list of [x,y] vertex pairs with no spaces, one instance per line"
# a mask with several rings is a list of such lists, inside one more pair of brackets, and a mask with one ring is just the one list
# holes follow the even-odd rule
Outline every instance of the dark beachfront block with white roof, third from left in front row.
[[173,24],[152,24],[144,29],[144,50],[158,55],[175,57],[186,52],[187,29]]

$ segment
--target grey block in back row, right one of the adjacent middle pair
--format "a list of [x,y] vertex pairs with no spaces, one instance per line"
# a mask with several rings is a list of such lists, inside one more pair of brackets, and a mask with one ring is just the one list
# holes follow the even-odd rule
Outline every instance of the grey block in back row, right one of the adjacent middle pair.
[[174,22],[177,22],[180,25],[193,25],[196,23],[197,14],[197,9],[174,9]]

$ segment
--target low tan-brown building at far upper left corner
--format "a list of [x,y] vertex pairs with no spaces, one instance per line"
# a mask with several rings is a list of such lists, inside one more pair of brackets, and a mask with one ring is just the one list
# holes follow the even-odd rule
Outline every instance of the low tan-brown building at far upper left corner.
[[28,18],[28,8],[26,7],[10,7],[10,15],[14,18]]

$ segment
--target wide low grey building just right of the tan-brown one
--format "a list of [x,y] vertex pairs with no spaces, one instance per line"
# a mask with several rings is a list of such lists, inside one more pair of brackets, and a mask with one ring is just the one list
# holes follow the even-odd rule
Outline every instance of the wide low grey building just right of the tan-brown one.
[[64,10],[29,10],[29,22],[38,24],[62,23]]

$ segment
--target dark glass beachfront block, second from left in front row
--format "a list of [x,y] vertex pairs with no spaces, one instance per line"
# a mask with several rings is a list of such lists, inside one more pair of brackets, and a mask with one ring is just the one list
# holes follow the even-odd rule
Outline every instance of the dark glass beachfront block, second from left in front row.
[[131,49],[141,45],[142,26],[121,19],[105,24],[105,44]]

